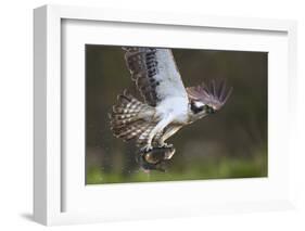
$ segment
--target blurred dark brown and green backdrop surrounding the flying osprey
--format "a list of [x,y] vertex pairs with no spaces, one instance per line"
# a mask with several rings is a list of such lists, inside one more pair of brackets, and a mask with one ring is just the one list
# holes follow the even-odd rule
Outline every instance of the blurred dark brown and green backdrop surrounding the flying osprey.
[[107,113],[130,80],[120,47],[86,46],[86,183],[267,177],[266,52],[173,49],[182,80],[225,78],[233,92],[218,113],[168,140],[176,154],[166,172],[143,172],[135,144],[112,136]]

